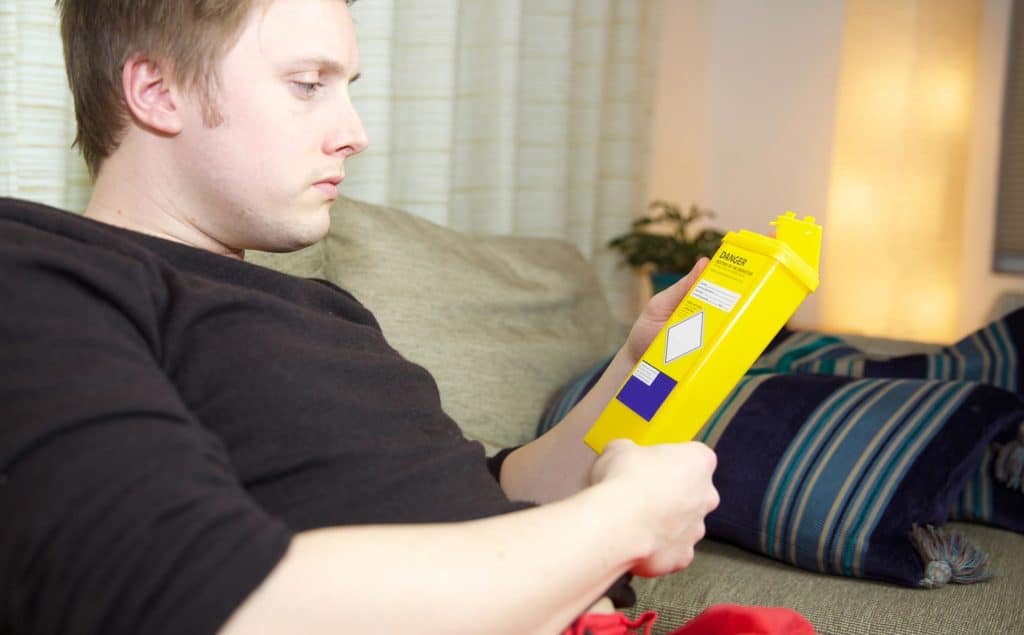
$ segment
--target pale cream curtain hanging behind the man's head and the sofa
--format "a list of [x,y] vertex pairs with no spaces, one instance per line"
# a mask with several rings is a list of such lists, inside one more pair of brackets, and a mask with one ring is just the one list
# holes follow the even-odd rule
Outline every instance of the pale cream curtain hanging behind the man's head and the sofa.
[[[645,207],[658,0],[360,0],[344,193],[460,230],[563,239],[612,306],[604,244]],[[51,2],[0,0],[0,194],[81,210],[89,182]]]

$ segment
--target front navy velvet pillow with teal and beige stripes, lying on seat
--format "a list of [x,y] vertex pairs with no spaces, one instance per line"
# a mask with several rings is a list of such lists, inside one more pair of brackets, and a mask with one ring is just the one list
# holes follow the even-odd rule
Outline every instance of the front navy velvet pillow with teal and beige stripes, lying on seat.
[[[715,448],[708,533],[826,574],[932,586],[911,540],[937,525],[1024,403],[976,382],[745,377],[698,440]],[[942,581],[945,582],[945,581]]]

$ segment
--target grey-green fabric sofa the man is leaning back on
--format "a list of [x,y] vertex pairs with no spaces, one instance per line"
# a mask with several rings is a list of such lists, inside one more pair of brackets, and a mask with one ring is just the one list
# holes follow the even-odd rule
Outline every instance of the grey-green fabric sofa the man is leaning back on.
[[[628,326],[614,320],[594,271],[566,243],[467,236],[344,198],[332,216],[322,242],[247,259],[353,293],[391,344],[433,374],[445,411],[488,453],[534,438],[559,390],[623,341]],[[921,346],[858,344],[880,354]],[[820,633],[1024,632],[1024,536],[946,526],[984,546],[990,580],[908,588],[805,570],[710,537],[685,570],[635,580],[630,612],[658,611],[655,633],[728,602],[788,606]]]

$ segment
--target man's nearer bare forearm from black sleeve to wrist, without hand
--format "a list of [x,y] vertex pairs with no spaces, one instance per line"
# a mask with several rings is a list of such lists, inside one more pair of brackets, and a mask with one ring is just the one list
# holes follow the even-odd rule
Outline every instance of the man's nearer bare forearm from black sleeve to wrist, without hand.
[[553,633],[644,542],[602,484],[470,522],[300,534],[223,633]]

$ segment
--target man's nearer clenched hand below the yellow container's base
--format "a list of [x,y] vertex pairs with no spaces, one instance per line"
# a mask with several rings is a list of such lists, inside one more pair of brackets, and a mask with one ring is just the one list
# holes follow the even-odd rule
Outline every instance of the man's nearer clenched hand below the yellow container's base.
[[712,483],[717,459],[703,443],[640,447],[613,440],[594,463],[591,482],[620,488],[617,513],[636,520],[643,554],[633,567],[638,576],[679,570],[693,560],[693,546],[703,538],[705,516],[718,507]]

